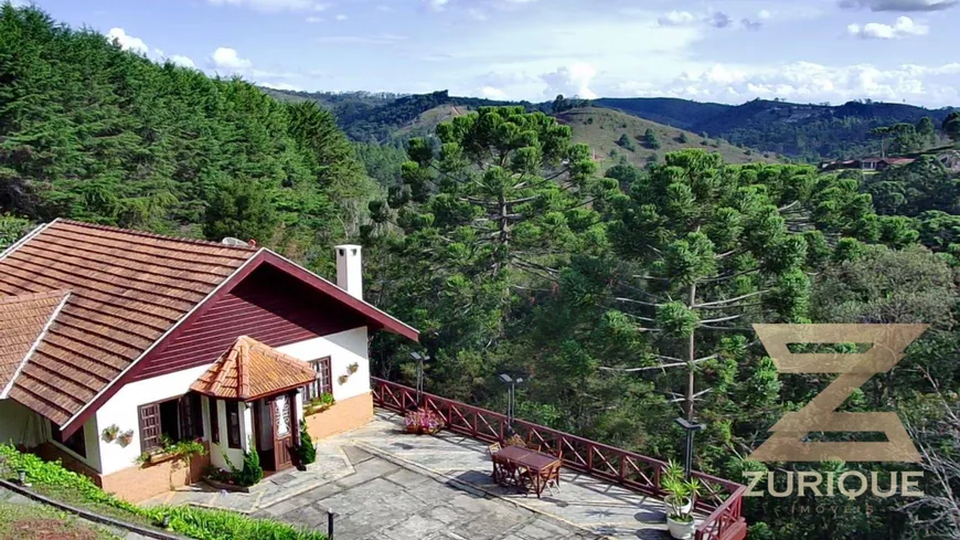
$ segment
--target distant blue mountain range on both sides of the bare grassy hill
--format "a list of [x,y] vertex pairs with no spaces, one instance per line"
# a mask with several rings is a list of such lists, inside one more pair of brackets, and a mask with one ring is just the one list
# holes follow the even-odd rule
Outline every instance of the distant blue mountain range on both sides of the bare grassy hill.
[[[280,99],[316,100],[337,115],[338,124],[351,139],[378,144],[425,135],[441,119],[484,105],[523,105],[546,113],[554,113],[555,105],[457,97],[447,91],[420,95],[266,91]],[[735,147],[811,162],[879,153],[879,140],[870,134],[873,128],[917,124],[925,116],[939,126],[952,110],[877,102],[832,106],[754,99],[724,105],[669,97],[605,97],[589,105],[705,135],[712,140],[723,139]],[[424,117],[428,112],[428,117]]]

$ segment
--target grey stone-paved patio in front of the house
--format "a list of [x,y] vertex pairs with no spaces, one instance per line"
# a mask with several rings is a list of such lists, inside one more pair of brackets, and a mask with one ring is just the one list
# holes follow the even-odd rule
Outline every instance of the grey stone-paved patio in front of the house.
[[449,432],[402,433],[377,411],[360,430],[322,441],[307,472],[265,479],[250,494],[203,484],[149,504],[191,504],[326,530],[338,540],[668,539],[662,501],[563,469],[543,498],[492,483],[484,443]]

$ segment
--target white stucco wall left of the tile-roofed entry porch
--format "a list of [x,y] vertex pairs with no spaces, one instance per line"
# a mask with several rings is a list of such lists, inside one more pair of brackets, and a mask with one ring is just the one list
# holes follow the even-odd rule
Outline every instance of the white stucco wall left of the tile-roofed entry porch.
[[[102,428],[116,424],[120,433],[134,430],[134,440],[124,448],[116,441],[105,443],[99,435],[95,436],[94,440],[99,443],[99,455],[103,460],[102,473],[108,475],[137,464],[137,458],[140,456],[140,419],[138,417],[140,405],[185,394],[190,391],[190,385],[209,368],[210,364],[206,364],[146,381],[131,382],[114,394],[97,411],[96,423],[103,426]],[[204,434],[209,431],[209,423],[204,424]]]

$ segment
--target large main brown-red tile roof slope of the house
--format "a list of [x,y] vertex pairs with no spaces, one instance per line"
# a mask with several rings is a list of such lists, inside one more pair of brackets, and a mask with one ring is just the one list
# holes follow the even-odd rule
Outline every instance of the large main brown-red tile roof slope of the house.
[[73,221],[46,225],[0,258],[0,297],[71,297],[10,398],[63,425],[256,253]]

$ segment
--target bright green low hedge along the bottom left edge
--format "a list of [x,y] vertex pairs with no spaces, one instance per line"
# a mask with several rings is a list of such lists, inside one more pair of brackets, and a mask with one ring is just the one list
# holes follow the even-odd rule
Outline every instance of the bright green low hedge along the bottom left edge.
[[18,452],[0,444],[0,476],[17,479],[20,472],[44,495],[66,502],[110,509],[111,516],[139,523],[157,526],[170,518],[170,530],[198,540],[327,540],[321,532],[297,529],[286,523],[253,519],[239,513],[194,507],[141,508],[114,497],[88,477],[67,470],[60,462],[44,462],[33,454]]

